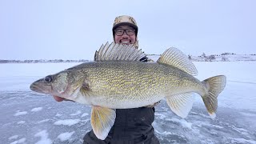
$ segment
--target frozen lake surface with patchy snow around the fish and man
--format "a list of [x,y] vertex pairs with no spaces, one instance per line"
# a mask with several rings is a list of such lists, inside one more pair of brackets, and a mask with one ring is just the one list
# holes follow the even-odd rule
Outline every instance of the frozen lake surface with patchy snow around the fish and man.
[[[55,102],[36,94],[30,83],[78,63],[0,64],[1,143],[82,143],[91,130],[90,106]],[[173,114],[164,100],[156,106],[155,133],[161,143],[256,144],[256,62],[194,62],[197,78],[227,77],[212,120],[202,99],[184,119]]]

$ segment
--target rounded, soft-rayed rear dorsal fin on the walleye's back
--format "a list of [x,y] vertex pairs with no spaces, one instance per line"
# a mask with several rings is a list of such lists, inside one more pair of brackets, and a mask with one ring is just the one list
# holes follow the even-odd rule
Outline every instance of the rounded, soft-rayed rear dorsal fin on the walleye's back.
[[178,50],[175,47],[167,49],[161,55],[161,57],[158,58],[158,63],[177,67],[178,69],[183,70],[190,75],[198,74],[198,70],[195,68],[190,59],[187,58],[181,50]]

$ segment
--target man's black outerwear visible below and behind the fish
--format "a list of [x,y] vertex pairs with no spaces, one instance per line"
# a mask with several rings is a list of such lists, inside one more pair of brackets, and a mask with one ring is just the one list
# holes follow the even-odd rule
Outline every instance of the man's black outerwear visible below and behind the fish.
[[[147,62],[147,58],[142,58]],[[98,139],[91,130],[85,135],[84,144],[158,144],[154,135],[154,107],[116,110],[116,119],[104,141]]]

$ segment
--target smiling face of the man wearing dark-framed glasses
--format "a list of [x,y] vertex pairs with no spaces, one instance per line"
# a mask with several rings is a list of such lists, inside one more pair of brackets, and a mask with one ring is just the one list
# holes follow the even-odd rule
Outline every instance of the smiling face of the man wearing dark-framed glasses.
[[114,30],[114,42],[122,44],[134,44],[136,42],[135,29],[131,26],[118,26]]

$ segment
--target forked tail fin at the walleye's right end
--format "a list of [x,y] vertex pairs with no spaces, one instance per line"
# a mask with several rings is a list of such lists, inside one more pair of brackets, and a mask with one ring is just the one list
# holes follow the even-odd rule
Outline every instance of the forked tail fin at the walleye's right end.
[[202,100],[205,103],[206,109],[210,114],[210,118],[216,117],[216,111],[218,107],[218,94],[222,92],[226,86],[226,76],[218,75],[212,78],[207,78],[202,81],[206,86],[206,94],[202,95]]

